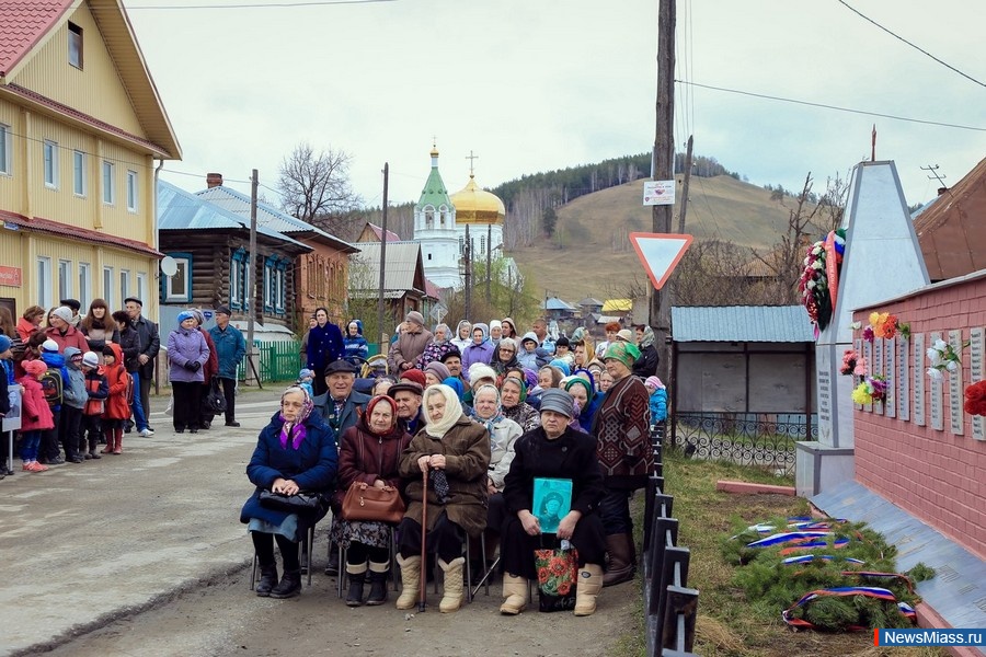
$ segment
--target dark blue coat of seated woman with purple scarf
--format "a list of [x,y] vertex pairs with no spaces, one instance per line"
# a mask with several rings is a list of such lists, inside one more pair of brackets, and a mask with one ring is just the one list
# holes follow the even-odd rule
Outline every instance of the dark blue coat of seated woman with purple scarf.
[[[277,526],[284,522],[288,516],[286,511],[275,511],[262,507],[260,504],[260,492],[273,486],[277,477],[294,480],[305,492],[326,493],[326,499],[328,493],[332,492],[335,484],[339,454],[332,428],[323,423],[317,413],[312,413],[305,423],[308,434],[298,449],[293,449],[290,445],[280,447],[279,436],[283,423],[278,416],[279,413],[275,414],[271,418],[271,424],[261,429],[253,457],[246,465],[246,476],[256,486],[256,491],[243,505],[243,509],[240,511],[240,522],[250,522],[251,518],[266,520]],[[328,512],[328,509],[326,505],[325,510],[319,515],[299,516],[298,533],[300,534],[308,527],[318,522]]]

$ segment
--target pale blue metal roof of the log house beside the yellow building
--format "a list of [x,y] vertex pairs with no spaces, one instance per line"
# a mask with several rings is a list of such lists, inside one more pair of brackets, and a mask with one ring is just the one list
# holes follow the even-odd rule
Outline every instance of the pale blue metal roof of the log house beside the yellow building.
[[[250,230],[250,221],[200,197],[175,187],[162,180],[158,181],[158,229],[159,230]],[[309,252],[311,246],[272,230],[257,222],[257,234],[287,242]]]

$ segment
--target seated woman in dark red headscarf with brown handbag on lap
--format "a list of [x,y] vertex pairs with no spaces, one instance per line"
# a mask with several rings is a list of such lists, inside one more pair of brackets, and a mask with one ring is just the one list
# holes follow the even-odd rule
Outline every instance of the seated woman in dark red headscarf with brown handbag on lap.
[[[398,427],[397,403],[378,395],[366,404],[366,412],[343,431],[339,446],[339,489],[333,509],[341,510],[343,498],[353,482],[365,482],[382,488],[401,489],[398,465],[401,453],[411,443],[411,435]],[[346,544],[346,574],[349,593],[346,604],[363,604],[363,585],[369,568],[369,606],[387,602],[387,575],[390,570],[390,526],[372,520],[345,520],[341,515],[332,525],[330,540]],[[369,566],[367,566],[367,561]]]

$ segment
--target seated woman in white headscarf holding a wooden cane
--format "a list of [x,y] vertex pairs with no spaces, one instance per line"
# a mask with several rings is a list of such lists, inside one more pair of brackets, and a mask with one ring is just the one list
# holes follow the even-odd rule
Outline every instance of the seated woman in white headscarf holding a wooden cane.
[[[438,610],[449,613],[462,603],[462,541],[486,527],[486,475],[490,436],[462,413],[462,405],[448,385],[425,390],[428,424],[417,433],[401,458],[400,474],[415,477],[406,488],[408,511],[400,525],[401,579],[404,588],[398,609],[411,609],[417,600],[421,577],[422,499],[427,495],[425,544],[438,555],[445,572],[445,591]],[[428,473],[428,489],[422,473]]]

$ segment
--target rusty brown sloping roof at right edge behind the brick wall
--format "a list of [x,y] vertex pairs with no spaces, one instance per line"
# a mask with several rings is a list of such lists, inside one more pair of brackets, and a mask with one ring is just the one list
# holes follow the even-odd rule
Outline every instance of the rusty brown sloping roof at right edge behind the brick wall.
[[931,280],[986,268],[986,160],[914,220]]

